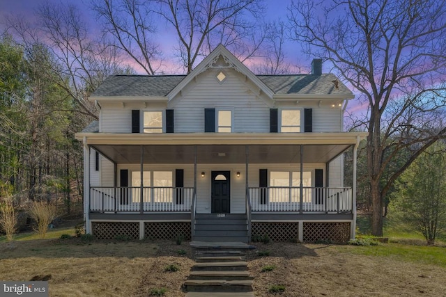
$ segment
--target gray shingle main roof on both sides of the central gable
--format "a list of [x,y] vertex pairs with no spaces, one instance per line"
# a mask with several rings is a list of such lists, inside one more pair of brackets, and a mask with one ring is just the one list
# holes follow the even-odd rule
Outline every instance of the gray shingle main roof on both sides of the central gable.
[[[258,75],[275,94],[351,95],[334,74]],[[113,75],[91,95],[93,97],[162,97],[169,94],[185,75]],[[338,81],[336,88],[333,81]]]

